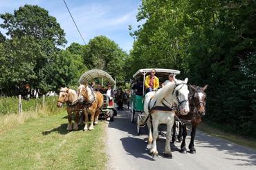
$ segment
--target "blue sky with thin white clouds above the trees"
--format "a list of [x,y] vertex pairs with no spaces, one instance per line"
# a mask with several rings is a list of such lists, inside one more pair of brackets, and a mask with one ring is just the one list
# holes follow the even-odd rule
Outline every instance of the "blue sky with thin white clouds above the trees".
[[[136,14],[140,0],[66,0],[66,3],[86,43],[95,36],[105,35],[129,53],[134,39],[129,36],[128,25],[133,28],[138,25]],[[73,42],[84,44],[62,0],[1,0],[0,13],[13,13],[25,4],[41,6],[56,17],[66,33],[66,47]]]

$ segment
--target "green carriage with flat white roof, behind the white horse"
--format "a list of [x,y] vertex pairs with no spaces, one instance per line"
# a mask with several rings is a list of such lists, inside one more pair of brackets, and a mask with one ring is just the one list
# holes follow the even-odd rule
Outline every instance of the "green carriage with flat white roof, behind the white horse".
[[[174,75],[180,74],[179,70],[170,70],[170,69],[154,69],[156,70],[156,76],[159,78],[159,81],[165,81],[169,74],[173,73]],[[152,69],[140,69],[133,75],[133,78],[143,78],[143,95],[145,94],[145,76],[149,75]],[[138,113],[137,116],[137,133],[140,134],[140,124],[145,120],[146,116],[143,109],[143,96],[136,95],[136,92],[132,91],[131,93],[131,123],[134,123],[134,116]]]

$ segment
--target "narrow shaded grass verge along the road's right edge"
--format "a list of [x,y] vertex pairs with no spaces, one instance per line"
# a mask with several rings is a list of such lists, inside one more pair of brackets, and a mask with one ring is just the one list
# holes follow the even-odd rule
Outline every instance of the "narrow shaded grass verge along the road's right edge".
[[223,138],[225,140],[236,143],[238,145],[256,149],[256,140],[253,138],[249,139],[249,138],[244,138],[242,136],[237,136],[235,134],[223,132],[223,131],[221,131],[221,129],[219,129],[217,127],[212,127],[206,123],[201,123],[199,125],[199,129],[201,131],[204,131],[207,134],[210,134],[211,136]]

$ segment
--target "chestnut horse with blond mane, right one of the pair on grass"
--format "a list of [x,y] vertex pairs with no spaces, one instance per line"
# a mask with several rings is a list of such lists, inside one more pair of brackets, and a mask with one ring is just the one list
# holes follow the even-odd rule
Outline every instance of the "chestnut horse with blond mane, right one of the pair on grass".
[[98,116],[100,108],[103,104],[103,95],[100,92],[93,92],[93,88],[89,85],[80,85],[77,89],[78,100],[84,105],[85,125],[84,130],[87,130],[89,125],[88,114],[91,114],[91,125],[89,130],[93,129],[93,123],[98,124]]

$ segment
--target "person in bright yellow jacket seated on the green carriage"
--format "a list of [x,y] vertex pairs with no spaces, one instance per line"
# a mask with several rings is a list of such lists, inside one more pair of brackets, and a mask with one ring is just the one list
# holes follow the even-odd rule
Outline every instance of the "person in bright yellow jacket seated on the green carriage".
[[155,74],[156,74],[156,70],[153,69],[150,72],[150,75],[146,76],[145,78],[146,93],[156,91],[156,89],[158,89],[159,87],[159,80],[155,76]]

